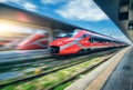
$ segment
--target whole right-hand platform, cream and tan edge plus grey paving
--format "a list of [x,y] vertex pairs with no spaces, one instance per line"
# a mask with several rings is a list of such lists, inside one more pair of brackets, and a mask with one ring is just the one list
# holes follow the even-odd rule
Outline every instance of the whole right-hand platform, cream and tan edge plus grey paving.
[[65,90],[133,90],[133,47],[119,51]]

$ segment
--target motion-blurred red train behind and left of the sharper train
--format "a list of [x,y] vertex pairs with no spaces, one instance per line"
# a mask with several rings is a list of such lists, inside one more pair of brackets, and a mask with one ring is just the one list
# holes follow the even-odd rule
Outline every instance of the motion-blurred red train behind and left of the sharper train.
[[27,39],[22,40],[17,44],[17,49],[19,50],[31,50],[31,49],[45,49],[48,48],[48,32],[38,32],[34,33]]

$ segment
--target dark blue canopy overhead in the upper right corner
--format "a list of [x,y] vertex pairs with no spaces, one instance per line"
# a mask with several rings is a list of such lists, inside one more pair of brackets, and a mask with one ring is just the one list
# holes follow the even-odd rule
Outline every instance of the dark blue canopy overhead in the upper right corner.
[[94,0],[133,42],[133,0]]

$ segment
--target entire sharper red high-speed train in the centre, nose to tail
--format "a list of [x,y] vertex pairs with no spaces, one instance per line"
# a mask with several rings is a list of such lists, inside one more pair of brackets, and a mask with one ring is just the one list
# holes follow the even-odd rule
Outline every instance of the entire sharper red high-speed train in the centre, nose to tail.
[[50,43],[50,51],[52,54],[72,54],[122,46],[125,46],[125,43],[114,38],[76,29],[64,38],[52,41]]

